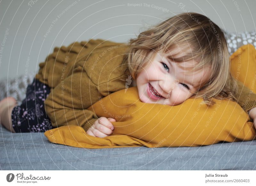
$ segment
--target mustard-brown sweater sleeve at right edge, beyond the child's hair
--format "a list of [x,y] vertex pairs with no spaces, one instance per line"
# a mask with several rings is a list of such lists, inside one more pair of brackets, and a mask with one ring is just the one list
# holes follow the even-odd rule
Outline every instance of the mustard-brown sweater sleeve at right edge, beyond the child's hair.
[[238,100],[237,103],[245,112],[248,112],[253,107],[256,107],[256,94],[254,94],[251,89],[244,86],[244,83],[241,81],[237,81],[237,89],[238,92],[235,95],[236,99]]

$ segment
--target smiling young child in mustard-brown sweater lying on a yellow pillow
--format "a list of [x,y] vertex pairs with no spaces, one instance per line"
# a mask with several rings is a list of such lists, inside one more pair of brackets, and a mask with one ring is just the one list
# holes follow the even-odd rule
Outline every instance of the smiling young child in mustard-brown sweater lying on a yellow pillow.
[[197,13],[167,19],[128,44],[90,40],[55,48],[39,66],[21,105],[15,105],[12,97],[0,102],[1,124],[12,132],[80,125],[88,135],[108,136],[116,120],[98,118],[86,108],[128,88],[127,82],[137,86],[144,103],[174,106],[201,97],[205,104],[214,105],[212,98],[224,96],[248,111],[251,120],[256,118],[256,94],[250,93],[245,104],[250,89],[229,72],[223,32]]

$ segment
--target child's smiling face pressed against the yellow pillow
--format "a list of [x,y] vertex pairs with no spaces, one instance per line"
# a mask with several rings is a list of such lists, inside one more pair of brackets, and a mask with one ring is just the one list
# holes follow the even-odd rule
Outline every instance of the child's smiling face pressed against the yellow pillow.
[[179,105],[191,97],[191,90],[196,92],[200,84],[207,80],[207,74],[211,73],[209,67],[199,71],[186,70],[186,67],[196,65],[193,60],[179,64],[182,67],[168,59],[167,55],[158,52],[136,79],[140,100],[144,103]]

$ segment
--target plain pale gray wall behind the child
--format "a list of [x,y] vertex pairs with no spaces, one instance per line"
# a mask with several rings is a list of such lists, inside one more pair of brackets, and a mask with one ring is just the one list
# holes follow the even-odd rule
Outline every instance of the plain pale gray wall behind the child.
[[252,31],[255,8],[253,0],[2,0],[0,79],[25,75],[26,69],[35,74],[55,46],[90,38],[127,42],[144,31],[145,24],[184,11],[204,14],[227,32]]

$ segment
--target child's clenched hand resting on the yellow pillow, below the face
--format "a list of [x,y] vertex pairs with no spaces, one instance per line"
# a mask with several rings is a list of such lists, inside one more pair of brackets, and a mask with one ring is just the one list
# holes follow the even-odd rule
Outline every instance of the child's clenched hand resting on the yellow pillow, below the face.
[[110,121],[115,122],[116,120],[114,118],[100,117],[94,122],[92,127],[86,131],[86,134],[94,137],[106,137],[112,134],[114,126]]

